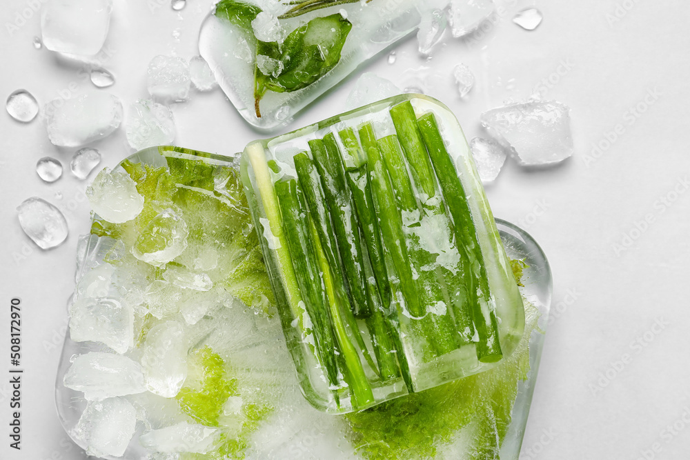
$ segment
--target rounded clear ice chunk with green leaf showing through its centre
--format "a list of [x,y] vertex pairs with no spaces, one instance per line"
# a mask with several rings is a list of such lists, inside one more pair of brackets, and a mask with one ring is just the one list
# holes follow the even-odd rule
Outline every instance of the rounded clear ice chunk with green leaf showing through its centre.
[[[132,247],[132,254],[140,261],[162,267],[187,248],[188,234],[189,230],[181,212],[166,208],[141,230]],[[168,271],[166,270],[166,273]]]

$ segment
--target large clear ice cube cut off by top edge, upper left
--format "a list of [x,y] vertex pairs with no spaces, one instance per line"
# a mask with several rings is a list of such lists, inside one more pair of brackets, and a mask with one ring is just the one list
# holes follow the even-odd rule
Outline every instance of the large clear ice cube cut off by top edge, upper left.
[[48,50],[97,54],[108,36],[112,0],[41,1],[41,34]]

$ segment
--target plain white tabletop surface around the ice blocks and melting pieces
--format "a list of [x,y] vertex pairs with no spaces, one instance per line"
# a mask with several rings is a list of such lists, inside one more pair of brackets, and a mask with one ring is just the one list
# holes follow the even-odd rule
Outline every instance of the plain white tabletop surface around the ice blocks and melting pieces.
[[[156,0],[115,0],[106,45],[112,57],[104,66],[117,78],[109,90],[125,104],[148,96],[146,66],[152,57],[197,54],[199,24],[213,2],[188,0],[179,13],[168,1],[161,3],[150,8]],[[26,88],[43,104],[72,81],[77,93],[91,89],[83,65],[33,48],[40,21],[31,4],[3,0],[0,6],[0,96]],[[422,74],[428,94],[450,106],[468,138],[481,134],[480,113],[506,99],[520,101],[542,90],[572,108],[571,159],[546,170],[524,170],[509,161],[487,187],[495,215],[520,224],[540,242],[555,280],[554,317],[521,458],[687,459],[690,3],[620,0],[618,11],[611,0],[497,4],[506,10],[486,32],[464,41],[446,35],[430,61],[417,54],[411,39],[397,46],[395,63],[388,64],[384,54],[362,71],[402,88],[420,86],[413,79]],[[511,18],[533,4],[544,22],[526,32]],[[23,25],[16,22],[22,12],[28,17]],[[8,23],[19,30],[8,32]],[[459,62],[477,76],[464,101],[450,76]],[[553,84],[540,83],[543,79]],[[342,112],[355,80],[356,75],[326,94],[291,127]],[[644,102],[649,90],[661,94],[653,103]],[[636,106],[644,113],[630,112]],[[219,90],[194,93],[172,110],[179,146],[222,154],[263,137]],[[618,124],[622,134],[613,140],[610,133]],[[604,150],[595,158],[593,144],[602,141]],[[23,125],[0,114],[0,147],[0,458],[78,459],[83,453],[68,441],[55,413],[54,386],[77,235],[88,230],[86,183],[68,170],[76,149],[52,146],[40,115]],[[95,147],[110,167],[132,152],[123,130]],[[44,156],[66,168],[56,183],[37,177],[35,163]],[[39,250],[21,231],[15,208],[31,196],[54,203],[68,219],[70,237],[59,248]],[[667,206],[662,198],[673,202]],[[645,217],[652,222],[636,230]],[[8,379],[1,377],[9,368],[12,297],[20,297],[23,306],[21,452],[8,448]]]

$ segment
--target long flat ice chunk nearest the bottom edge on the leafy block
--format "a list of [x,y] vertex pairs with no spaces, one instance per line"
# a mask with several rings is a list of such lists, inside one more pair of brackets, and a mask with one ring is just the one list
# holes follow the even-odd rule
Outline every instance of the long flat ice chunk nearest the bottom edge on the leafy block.
[[139,442],[141,446],[154,452],[206,454],[215,447],[219,434],[218,428],[183,421],[177,425],[145,432],[139,437]]

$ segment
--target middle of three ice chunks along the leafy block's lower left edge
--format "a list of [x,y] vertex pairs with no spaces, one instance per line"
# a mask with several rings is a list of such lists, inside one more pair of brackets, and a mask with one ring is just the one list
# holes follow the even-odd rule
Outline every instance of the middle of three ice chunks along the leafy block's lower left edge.
[[139,363],[112,353],[79,355],[65,374],[64,383],[67,388],[83,392],[87,401],[146,391]]

